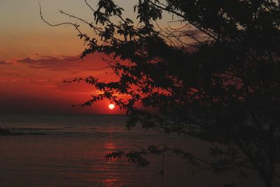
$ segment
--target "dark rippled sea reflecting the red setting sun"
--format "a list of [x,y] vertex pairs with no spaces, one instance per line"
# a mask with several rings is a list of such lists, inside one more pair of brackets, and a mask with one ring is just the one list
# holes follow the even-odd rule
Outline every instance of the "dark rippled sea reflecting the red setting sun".
[[[148,145],[167,144],[209,157],[206,143],[135,127],[127,130],[125,116],[1,115],[0,126],[25,135],[0,137],[0,186],[263,186],[237,174],[193,172],[179,156],[151,155],[148,167],[121,160],[106,160],[116,151],[139,151]],[[43,134],[43,135],[38,135]]]

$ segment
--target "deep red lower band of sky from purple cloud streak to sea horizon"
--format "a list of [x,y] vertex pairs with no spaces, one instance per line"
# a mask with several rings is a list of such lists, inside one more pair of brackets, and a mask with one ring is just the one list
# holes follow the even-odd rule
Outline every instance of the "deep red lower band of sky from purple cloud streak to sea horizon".
[[[93,73],[101,81],[116,80],[113,74],[106,74],[106,69],[90,71],[104,67],[102,57],[95,53],[83,61],[40,55],[22,57],[15,62],[0,59],[0,113],[124,114],[125,111],[120,111],[115,105],[109,109],[111,102],[106,99],[91,107],[71,107],[72,104],[84,103],[91,99],[90,95],[99,95],[101,92],[85,83],[68,84],[63,81],[85,78]],[[72,58],[77,56],[69,57]],[[20,97],[17,96],[19,92]],[[119,97],[126,99],[122,95]]]

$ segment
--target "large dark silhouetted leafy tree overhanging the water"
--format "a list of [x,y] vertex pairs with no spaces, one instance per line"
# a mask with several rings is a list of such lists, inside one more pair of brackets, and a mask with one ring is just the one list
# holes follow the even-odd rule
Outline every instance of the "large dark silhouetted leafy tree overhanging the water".
[[[102,91],[84,106],[110,99],[127,111],[127,127],[139,123],[223,144],[227,148],[211,148],[219,156],[209,163],[214,171],[255,169],[272,186],[280,162],[279,1],[139,0],[135,19],[124,18],[111,0],[99,0],[96,9],[85,3],[94,22],[61,13],[89,26],[94,36],[72,22],[59,25],[73,25],[85,40],[82,58],[108,55],[105,62],[118,80],[73,80]],[[162,25],[165,15],[173,21]],[[201,161],[176,148],[146,151],[164,150]]]

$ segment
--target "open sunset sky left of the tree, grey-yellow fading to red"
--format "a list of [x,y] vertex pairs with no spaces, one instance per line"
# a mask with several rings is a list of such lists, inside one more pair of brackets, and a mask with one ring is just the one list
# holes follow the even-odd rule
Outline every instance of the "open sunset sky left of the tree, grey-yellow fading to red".
[[[96,0],[88,0],[92,6]],[[52,23],[65,18],[59,10],[92,19],[83,0],[39,0],[43,16]],[[132,16],[134,1],[116,1]],[[74,20],[73,20],[74,21]],[[71,27],[50,27],[40,18],[37,0],[0,1],[0,113],[123,113],[109,110],[109,101],[91,107],[82,104],[97,94],[83,83],[63,83],[77,77],[116,78],[105,66],[102,55],[75,60],[85,46]],[[86,31],[87,32],[87,31]]]

